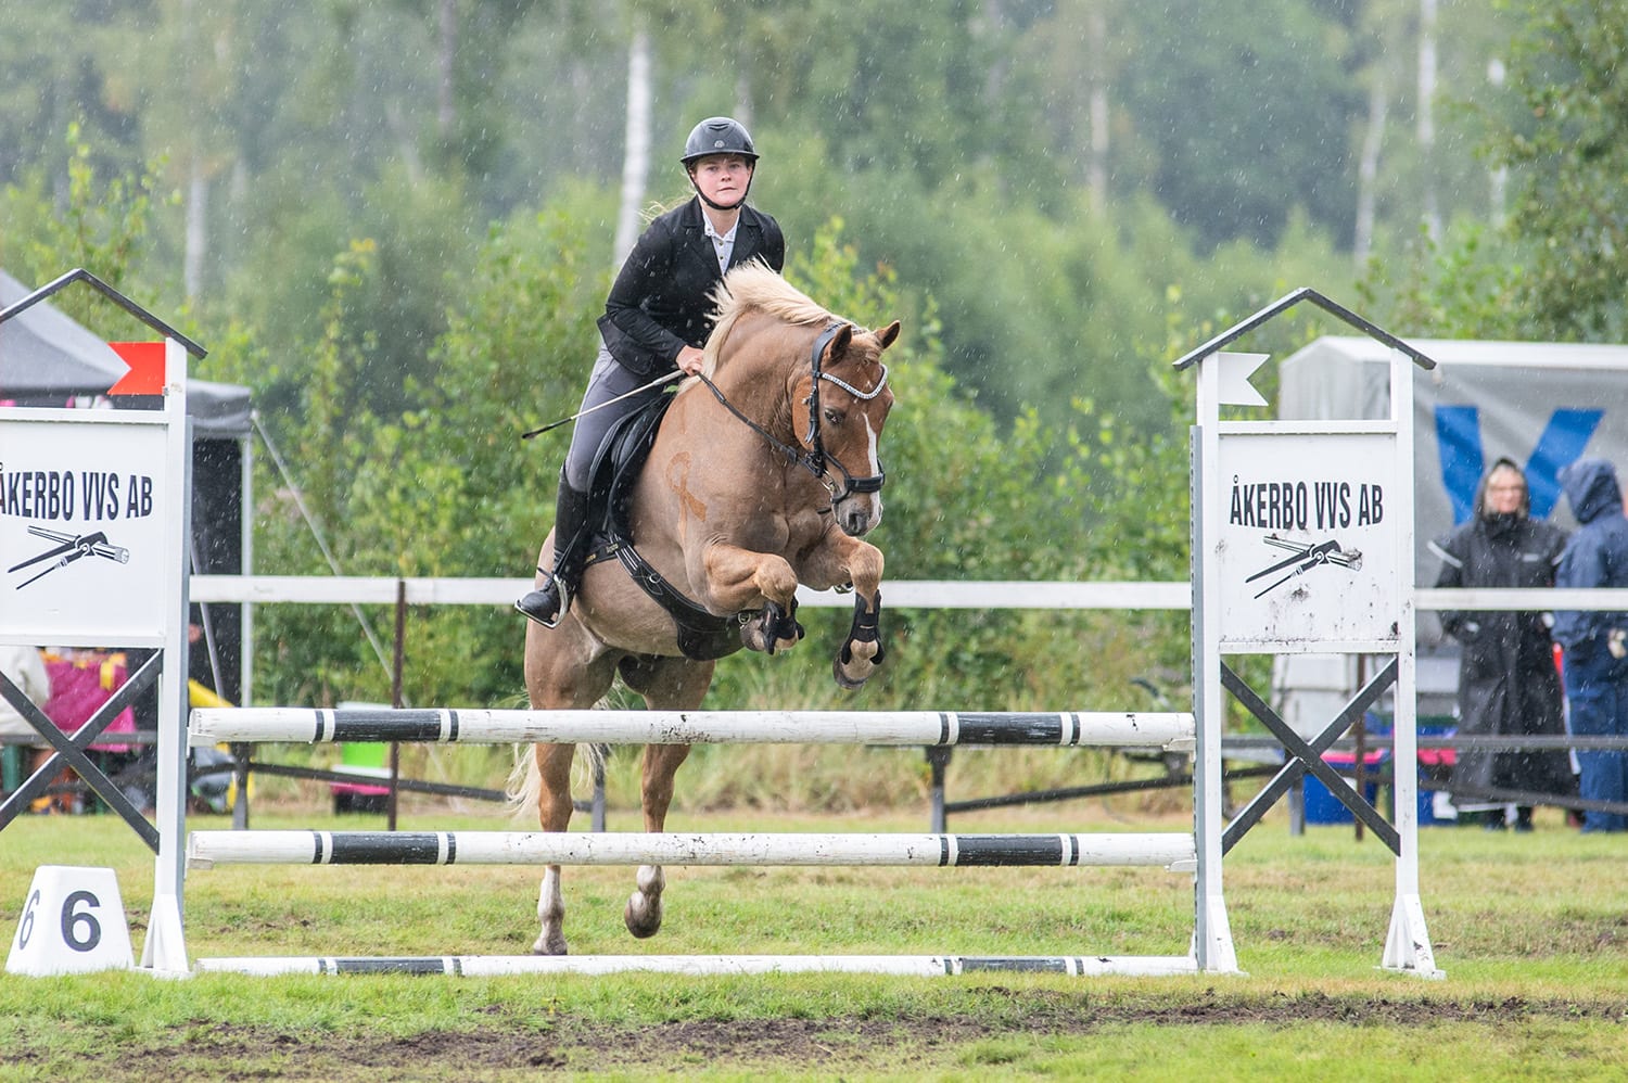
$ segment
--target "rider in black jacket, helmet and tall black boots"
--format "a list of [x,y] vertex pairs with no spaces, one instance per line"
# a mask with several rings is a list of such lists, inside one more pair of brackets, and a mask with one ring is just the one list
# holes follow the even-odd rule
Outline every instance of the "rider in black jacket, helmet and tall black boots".
[[[746,205],[757,166],[747,130],[729,117],[708,117],[690,130],[681,158],[695,197],[645,230],[622,264],[606,314],[599,318],[599,357],[583,394],[583,412],[651,379],[702,368],[711,332],[711,292],[729,267],[759,259],[775,270],[786,261],[780,223]],[[554,627],[571,607],[588,537],[589,471],[610,427],[663,394],[640,394],[580,417],[560,471],[554,515],[554,568],[544,585],[514,603],[523,614]]]

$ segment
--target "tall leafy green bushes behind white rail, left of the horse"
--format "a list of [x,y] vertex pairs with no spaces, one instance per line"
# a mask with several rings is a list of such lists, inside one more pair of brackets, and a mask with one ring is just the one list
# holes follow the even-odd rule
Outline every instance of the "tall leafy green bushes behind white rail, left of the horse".
[[[383,275],[357,243],[329,275],[313,365],[300,383],[287,435],[301,449],[303,503],[347,575],[516,577],[536,559],[554,506],[557,458],[519,433],[568,414],[591,365],[594,316],[607,272],[583,269],[604,251],[581,215],[555,212],[495,226],[467,300],[433,347],[436,379],[422,406],[374,409],[348,383],[368,342],[355,340],[352,296]],[[327,560],[278,477],[265,477],[257,520],[260,570],[324,575]],[[387,625],[387,614],[373,614]],[[381,624],[383,622],[383,624]],[[278,702],[387,699],[387,673],[357,635],[348,611],[270,607],[257,664]],[[519,635],[506,611],[415,614],[404,697],[409,702],[510,704],[519,695]],[[291,699],[290,699],[291,697]]]

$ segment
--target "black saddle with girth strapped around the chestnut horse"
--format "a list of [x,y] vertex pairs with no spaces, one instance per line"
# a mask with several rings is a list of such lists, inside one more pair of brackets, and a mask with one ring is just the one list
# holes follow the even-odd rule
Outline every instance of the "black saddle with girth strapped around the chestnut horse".
[[633,547],[633,484],[672,404],[664,394],[619,420],[594,454],[589,500],[589,554],[583,567],[615,557],[650,598],[679,625],[679,650],[692,661],[713,661],[741,650],[739,619],[720,617],[681,594]]

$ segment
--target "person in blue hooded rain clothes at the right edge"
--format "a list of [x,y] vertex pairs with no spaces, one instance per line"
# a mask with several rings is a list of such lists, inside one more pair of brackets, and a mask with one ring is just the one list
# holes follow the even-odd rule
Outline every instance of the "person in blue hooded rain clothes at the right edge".
[[[1555,586],[1628,586],[1628,518],[1617,471],[1578,459],[1560,472],[1579,528],[1566,544]],[[1628,612],[1558,611],[1555,638],[1566,655],[1566,697],[1578,736],[1628,736]],[[1578,751],[1579,790],[1591,801],[1628,801],[1628,752]],[[1584,831],[1623,831],[1620,813],[1586,811]]]

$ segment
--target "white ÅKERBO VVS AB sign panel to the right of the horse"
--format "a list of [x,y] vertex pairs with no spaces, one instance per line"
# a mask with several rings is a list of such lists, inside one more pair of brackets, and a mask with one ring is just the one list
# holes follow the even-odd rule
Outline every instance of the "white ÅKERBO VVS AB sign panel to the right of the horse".
[[1223,645],[1395,642],[1395,435],[1226,433],[1218,451]]

